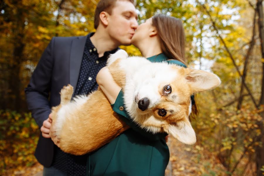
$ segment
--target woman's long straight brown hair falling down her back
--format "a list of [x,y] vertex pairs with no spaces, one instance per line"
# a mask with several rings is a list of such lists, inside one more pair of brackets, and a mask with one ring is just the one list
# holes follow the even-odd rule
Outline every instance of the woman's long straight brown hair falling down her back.
[[[179,18],[156,14],[152,17],[152,26],[157,29],[161,49],[170,59],[179,60],[187,64],[185,58],[185,33],[182,21]],[[193,117],[198,114],[197,104],[192,106]]]

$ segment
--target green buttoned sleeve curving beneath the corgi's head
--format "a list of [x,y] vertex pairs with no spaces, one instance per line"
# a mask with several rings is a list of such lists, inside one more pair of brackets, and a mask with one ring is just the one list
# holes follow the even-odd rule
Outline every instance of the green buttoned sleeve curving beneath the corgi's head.
[[[164,138],[167,136],[167,133],[156,133],[153,134],[151,132],[147,132],[145,129],[140,128],[133,120],[130,118],[130,116],[127,114],[125,106],[124,106],[124,100],[123,100],[123,91],[121,90],[116,98],[116,101],[114,104],[111,105],[113,107],[113,110],[119,114],[120,118],[128,125],[130,126],[134,131],[140,133],[142,136],[156,141]],[[120,108],[121,107],[121,108]]]

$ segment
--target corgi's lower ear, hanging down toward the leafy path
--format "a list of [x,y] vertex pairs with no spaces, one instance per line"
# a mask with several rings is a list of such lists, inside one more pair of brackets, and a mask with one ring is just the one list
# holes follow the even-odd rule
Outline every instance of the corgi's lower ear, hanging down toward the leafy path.
[[168,133],[185,144],[196,142],[195,132],[188,120],[180,121],[177,125],[170,125]]

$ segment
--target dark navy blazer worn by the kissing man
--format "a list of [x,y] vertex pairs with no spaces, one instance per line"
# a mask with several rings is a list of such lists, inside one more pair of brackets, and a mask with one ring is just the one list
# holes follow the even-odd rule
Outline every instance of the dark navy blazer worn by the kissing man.
[[[54,37],[43,52],[25,89],[28,109],[39,127],[48,119],[51,107],[60,104],[62,87],[67,84],[76,87],[87,36]],[[53,141],[40,135],[35,157],[49,167],[53,155]]]

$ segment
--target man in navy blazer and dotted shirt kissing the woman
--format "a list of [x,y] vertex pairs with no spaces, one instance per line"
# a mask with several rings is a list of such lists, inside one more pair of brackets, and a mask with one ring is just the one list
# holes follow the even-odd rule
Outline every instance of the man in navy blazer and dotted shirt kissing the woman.
[[[82,37],[55,37],[45,49],[25,89],[28,108],[40,127],[35,151],[43,175],[85,175],[89,155],[62,152],[51,141],[51,107],[60,104],[60,89],[71,84],[74,95],[96,90],[96,75],[119,45],[130,45],[138,26],[133,0],[101,0],[94,16],[95,33]],[[96,174],[94,171],[92,174]]]

